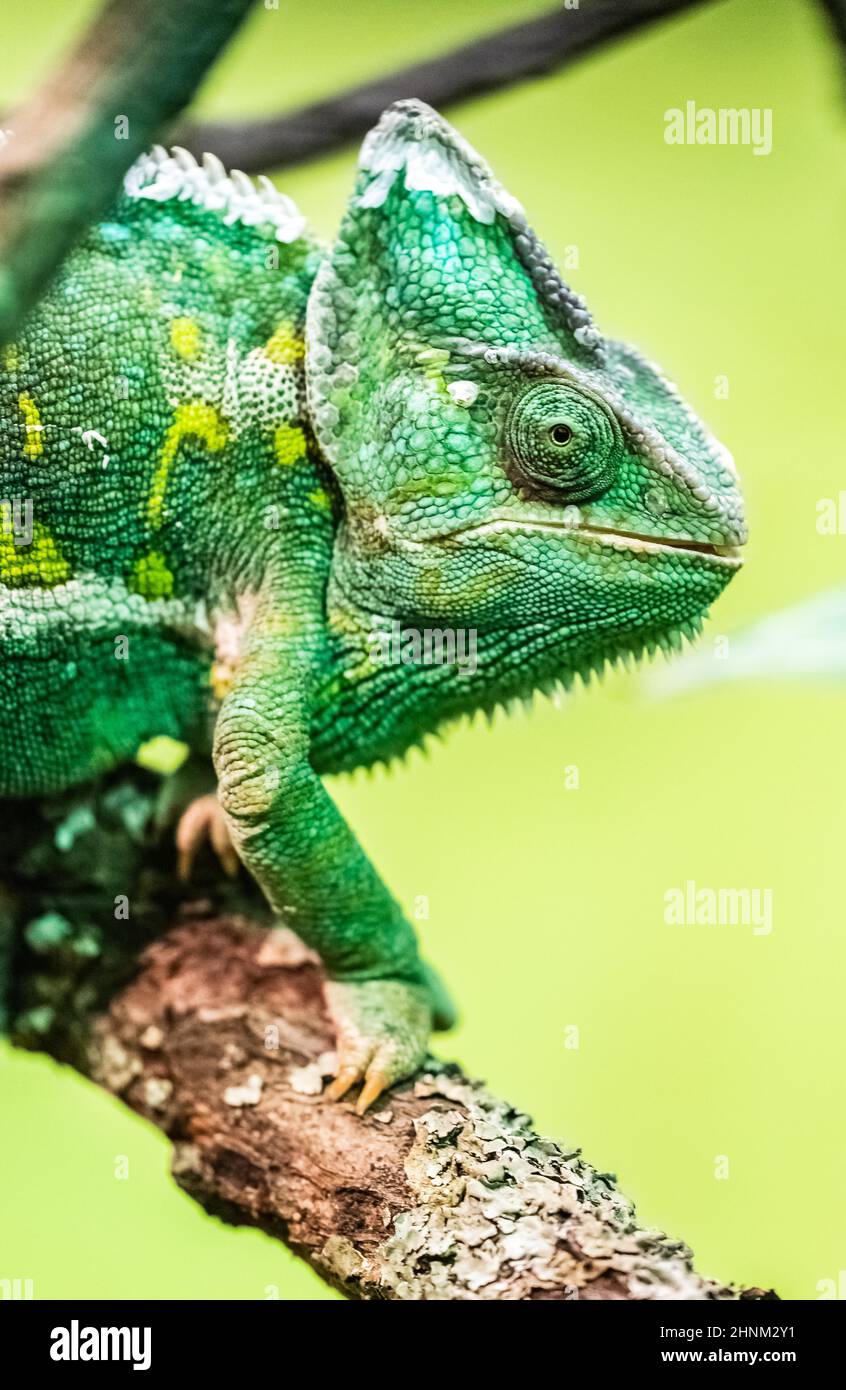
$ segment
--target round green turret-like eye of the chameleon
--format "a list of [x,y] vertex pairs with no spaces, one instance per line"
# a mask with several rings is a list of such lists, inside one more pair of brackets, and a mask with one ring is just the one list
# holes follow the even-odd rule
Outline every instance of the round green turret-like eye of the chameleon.
[[542,381],[517,398],[506,421],[506,448],[526,482],[585,502],[617,475],[620,427],[606,406],[563,381]]

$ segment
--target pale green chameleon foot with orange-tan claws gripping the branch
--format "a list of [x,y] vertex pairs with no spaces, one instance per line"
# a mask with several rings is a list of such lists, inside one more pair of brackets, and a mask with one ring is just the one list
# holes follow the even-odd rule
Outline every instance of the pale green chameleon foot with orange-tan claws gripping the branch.
[[364,1083],[356,1102],[356,1112],[364,1115],[382,1091],[424,1061],[432,1027],[429,994],[424,986],[399,980],[331,980],[325,995],[338,1047],[338,1076],[325,1094],[339,1101]]

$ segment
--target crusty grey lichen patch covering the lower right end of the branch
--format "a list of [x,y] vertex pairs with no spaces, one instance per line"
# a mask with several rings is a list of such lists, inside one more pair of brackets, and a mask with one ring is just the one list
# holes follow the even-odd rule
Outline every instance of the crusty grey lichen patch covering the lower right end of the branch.
[[446,1104],[415,1122],[406,1158],[415,1204],[368,1261],[385,1297],[578,1298],[602,1276],[620,1297],[738,1297],[696,1275],[681,1241],[639,1227],[610,1175],[540,1138],[483,1087],[440,1072],[415,1090]]

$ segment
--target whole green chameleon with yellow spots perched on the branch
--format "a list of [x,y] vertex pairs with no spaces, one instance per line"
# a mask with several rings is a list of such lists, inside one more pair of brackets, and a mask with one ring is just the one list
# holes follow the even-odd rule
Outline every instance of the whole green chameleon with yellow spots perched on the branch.
[[[450,1005],[321,774],[693,637],[740,563],[731,456],[413,100],[328,249],[267,179],[154,149],[0,382],[0,795],[156,735],[211,755],[183,865],[235,851],[320,952],[364,1111]],[[382,659],[397,621],[472,630],[475,669]]]

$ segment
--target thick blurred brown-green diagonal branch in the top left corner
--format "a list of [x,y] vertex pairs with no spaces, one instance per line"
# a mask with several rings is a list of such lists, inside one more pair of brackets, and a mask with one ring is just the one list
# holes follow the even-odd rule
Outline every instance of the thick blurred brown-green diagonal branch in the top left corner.
[[[250,0],[110,0],[0,152],[0,342],[193,97]],[[115,120],[125,117],[125,139]]]

